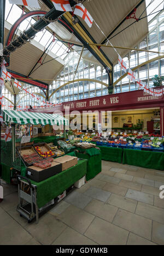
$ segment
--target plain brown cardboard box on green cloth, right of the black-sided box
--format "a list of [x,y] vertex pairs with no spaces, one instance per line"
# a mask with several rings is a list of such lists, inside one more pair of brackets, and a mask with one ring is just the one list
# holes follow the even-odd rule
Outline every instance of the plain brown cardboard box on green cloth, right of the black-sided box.
[[75,156],[61,156],[54,159],[55,162],[62,164],[62,170],[66,170],[78,163],[78,157]]

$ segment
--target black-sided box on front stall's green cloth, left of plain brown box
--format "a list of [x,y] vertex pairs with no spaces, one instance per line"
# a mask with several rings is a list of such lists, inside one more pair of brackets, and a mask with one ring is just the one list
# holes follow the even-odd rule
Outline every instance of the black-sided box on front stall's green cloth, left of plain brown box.
[[31,166],[27,168],[27,178],[40,182],[42,180],[48,179],[51,176],[54,176],[57,173],[62,171],[62,164],[52,162],[51,167],[47,169],[41,169],[36,166]]

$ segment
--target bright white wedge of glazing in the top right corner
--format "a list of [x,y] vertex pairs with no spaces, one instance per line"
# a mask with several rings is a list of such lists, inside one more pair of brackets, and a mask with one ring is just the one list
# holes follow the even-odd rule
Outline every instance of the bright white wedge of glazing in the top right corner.
[[163,9],[163,0],[146,0],[146,5],[149,22]]

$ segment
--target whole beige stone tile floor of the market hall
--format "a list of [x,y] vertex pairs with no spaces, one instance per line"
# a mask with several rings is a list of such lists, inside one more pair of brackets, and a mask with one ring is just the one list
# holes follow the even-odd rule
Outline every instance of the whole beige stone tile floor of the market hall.
[[[102,173],[28,224],[4,186],[0,244],[164,244],[164,172],[102,161]],[[17,238],[19,234],[19,239]]]

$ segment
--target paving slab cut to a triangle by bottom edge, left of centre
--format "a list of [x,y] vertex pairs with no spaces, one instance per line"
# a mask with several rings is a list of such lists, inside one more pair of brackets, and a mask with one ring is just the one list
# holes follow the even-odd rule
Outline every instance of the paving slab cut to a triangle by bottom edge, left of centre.
[[81,235],[79,232],[67,227],[62,234],[56,238],[52,245],[96,245],[96,242],[93,242],[84,235]]

